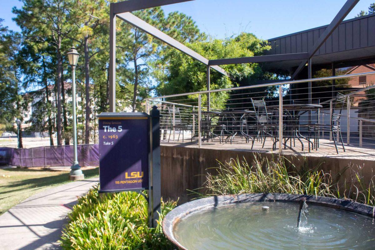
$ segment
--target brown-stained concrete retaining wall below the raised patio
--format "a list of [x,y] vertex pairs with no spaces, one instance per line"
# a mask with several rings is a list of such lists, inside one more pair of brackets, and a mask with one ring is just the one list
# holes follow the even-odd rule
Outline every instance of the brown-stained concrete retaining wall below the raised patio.
[[[260,156],[272,158],[277,155],[260,153]],[[305,162],[303,156],[284,156],[296,166],[300,166],[302,162]],[[214,174],[215,170],[208,168],[217,166],[217,160],[224,163],[236,157],[239,157],[239,159],[245,157],[246,161],[250,164],[254,160],[254,152],[161,145],[163,198],[171,198],[175,201],[179,198],[179,203],[189,201],[193,196],[189,196],[190,192],[187,190],[202,187],[207,173]],[[342,173],[339,178],[340,182],[351,180],[351,171],[347,169],[350,164],[362,166],[362,174],[365,176],[366,183],[375,174],[375,161],[371,160],[309,156],[306,158],[306,161],[310,168],[320,165],[320,168],[325,172],[331,171],[333,176]]]

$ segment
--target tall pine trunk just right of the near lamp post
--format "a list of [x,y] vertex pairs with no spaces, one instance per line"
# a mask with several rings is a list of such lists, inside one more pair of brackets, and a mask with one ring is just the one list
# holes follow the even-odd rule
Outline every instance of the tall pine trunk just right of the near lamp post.
[[85,96],[86,96],[86,119],[85,119],[85,144],[90,143],[90,58],[89,58],[89,37],[84,40],[85,52]]

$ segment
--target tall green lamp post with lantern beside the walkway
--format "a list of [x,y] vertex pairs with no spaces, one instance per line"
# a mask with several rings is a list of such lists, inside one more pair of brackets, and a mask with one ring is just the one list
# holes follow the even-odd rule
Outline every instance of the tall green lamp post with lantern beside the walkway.
[[73,105],[73,148],[74,148],[74,161],[71,166],[71,172],[69,174],[69,180],[83,180],[84,175],[82,173],[80,165],[78,165],[77,157],[77,115],[75,112],[75,66],[77,66],[78,57],[80,56],[77,50],[72,47],[67,53],[69,64],[72,66],[72,105]]

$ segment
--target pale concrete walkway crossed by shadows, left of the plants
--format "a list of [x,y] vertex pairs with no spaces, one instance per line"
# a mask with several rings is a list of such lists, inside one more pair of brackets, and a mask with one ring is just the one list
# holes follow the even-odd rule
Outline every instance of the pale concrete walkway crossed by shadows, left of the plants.
[[67,215],[99,178],[71,182],[37,193],[0,216],[0,250],[60,249]]

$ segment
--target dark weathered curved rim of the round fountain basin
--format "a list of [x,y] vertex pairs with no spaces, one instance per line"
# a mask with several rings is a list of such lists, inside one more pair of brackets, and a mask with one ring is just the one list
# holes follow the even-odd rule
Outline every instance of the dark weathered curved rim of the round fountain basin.
[[369,218],[374,217],[375,208],[362,203],[354,202],[351,200],[337,199],[331,197],[315,196],[315,195],[294,195],[284,193],[246,193],[240,195],[220,195],[210,196],[207,198],[196,199],[190,202],[186,202],[170,211],[162,222],[163,233],[166,235],[178,249],[187,250],[184,248],[174,237],[173,230],[176,223],[181,218],[188,214],[210,208],[218,207],[222,205],[244,203],[244,202],[264,202],[264,201],[284,201],[284,202],[300,202],[301,198],[306,198],[308,204],[320,205],[323,207],[331,207],[339,210],[349,211],[357,214],[368,216]]

